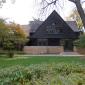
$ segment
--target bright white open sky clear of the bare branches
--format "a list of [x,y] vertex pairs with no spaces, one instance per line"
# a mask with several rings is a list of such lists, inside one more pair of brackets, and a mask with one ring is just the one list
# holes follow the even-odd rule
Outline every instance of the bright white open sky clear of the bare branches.
[[[72,2],[65,1],[64,8],[58,11],[63,18],[68,16],[75,7]],[[35,0],[16,0],[13,4],[11,3],[11,0],[7,0],[3,7],[0,8],[0,18],[5,18],[7,21],[12,21],[21,25],[28,24],[33,18],[39,17],[39,5],[38,2],[35,3]],[[46,17],[42,18],[45,19]]]

